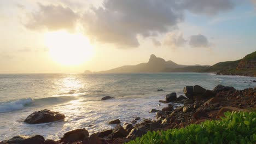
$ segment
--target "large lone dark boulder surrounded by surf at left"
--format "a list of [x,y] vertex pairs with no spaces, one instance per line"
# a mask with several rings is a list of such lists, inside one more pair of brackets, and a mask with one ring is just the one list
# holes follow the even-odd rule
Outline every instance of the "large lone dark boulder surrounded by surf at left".
[[65,118],[65,115],[60,112],[54,112],[50,110],[41,110],[31,113],[26,119],[25,123],[38,124],[38,123],[49,123],[54,121],[60,121]]

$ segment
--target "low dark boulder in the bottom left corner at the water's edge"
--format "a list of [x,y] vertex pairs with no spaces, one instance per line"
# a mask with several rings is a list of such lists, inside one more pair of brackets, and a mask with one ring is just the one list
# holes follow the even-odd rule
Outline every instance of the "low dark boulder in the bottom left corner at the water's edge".
[[44,137],[41,135],[35,135],[35,136],[14,136],[13,138],[3,141],[9,144],[19,144],[19,143],[25,143],[25,144],[43,144],[44,143]]

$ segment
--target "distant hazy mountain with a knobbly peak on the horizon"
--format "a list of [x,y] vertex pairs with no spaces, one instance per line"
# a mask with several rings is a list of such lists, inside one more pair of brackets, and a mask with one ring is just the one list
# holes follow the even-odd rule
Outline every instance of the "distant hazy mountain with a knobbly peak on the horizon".
[[165,61],[163,58],[151,55],[147,63],[140,63],[137,65],[125,65],[123,67],[100,71],[98,73],[148,73],[148,72],[162,72],[166,68],[176,69],[185,67],[172,61]]

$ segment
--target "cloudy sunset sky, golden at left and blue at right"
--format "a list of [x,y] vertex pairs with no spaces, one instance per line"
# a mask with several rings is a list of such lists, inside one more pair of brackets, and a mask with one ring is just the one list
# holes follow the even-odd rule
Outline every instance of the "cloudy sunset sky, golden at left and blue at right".
[[0,1],[0,73],[213,65],[256,50],[255,0]]

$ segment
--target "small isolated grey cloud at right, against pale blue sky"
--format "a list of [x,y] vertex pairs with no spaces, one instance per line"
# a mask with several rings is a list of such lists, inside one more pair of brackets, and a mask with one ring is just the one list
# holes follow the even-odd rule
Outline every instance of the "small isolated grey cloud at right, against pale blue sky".
[[189,40],[189,45],[191,47],[203,47],[203,48],[210,47],[210,43],[208,39],[205,37],[205,35],[202,35],[202,34],[191,35]]

